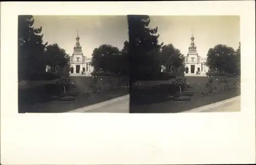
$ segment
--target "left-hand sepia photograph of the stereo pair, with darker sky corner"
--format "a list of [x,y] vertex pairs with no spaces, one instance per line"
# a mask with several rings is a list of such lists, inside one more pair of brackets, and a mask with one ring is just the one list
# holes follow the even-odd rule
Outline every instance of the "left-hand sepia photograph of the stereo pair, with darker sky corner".
[[125,15],[19,15],[18,112],[129,113],[127,31]]

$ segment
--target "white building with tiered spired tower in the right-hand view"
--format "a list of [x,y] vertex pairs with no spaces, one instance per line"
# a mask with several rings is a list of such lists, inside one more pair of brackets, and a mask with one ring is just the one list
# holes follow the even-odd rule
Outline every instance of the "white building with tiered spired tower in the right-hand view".
[[206,66],[206,58],[198,56],[197,46],[195,45],[195,38],[192,35],[190,38],[190,46],[188,47],[187,56],[185,56],[185,74],[197,74],[197,72],[206,73],[208,67]]

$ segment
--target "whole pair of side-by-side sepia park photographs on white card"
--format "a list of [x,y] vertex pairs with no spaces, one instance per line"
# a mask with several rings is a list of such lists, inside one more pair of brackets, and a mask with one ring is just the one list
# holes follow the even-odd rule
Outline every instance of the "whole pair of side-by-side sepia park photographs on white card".
[[18,16],[18,113],[240,111],[239,16]]

